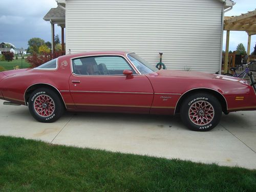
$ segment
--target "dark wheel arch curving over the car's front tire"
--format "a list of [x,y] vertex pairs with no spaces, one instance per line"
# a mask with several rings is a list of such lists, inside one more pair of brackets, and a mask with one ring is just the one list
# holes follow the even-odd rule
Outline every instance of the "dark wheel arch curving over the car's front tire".
[[219,102],[221,103],[222,111],[224,113],[227,113],[227,100],[219,91],[216,91],[216,90],[210,89],[210,88],[195,88],[195,89],[188,90],[188,91],[186,91],[185,93],[183,93],[181,95],[181,97],[179,98],[179,100],[176,104],[174,114],[180,112],[181,104],[187,96],[189,96],[191,94],[194,94],[194,93],[198,93],[198,92],[205,92],[205,93],[209,93],[211,95],[214,95],[219,100]]

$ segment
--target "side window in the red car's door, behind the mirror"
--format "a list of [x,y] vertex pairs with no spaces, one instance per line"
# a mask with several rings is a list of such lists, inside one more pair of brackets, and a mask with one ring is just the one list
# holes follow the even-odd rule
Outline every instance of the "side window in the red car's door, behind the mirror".
[[135,71],[120,56],[94,56],[73,59],[73,72],[77,75],[122,75],[123,70]]

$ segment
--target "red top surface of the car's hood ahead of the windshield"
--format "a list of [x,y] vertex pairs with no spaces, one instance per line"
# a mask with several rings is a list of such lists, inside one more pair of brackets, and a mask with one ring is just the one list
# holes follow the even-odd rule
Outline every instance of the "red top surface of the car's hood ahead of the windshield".
[[175,70],[160,70],[156,72],[159,76],[169,77],[188,77],[188,78],[200,78],[200,79],[213,79],[215,74],[194,72],[194,71],[175,71]]

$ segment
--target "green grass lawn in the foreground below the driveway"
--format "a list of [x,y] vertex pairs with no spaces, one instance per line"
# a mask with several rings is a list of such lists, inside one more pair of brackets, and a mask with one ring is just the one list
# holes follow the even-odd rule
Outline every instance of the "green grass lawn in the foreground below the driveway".
[[0,191],[255,191],[256,170],[0,136]]

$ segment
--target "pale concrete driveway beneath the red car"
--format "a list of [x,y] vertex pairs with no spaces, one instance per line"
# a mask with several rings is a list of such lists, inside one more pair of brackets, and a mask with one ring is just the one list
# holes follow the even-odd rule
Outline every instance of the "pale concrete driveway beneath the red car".
[[66,113],[40,123],[26,106],[3,105],[0,135],[122,153],[256,169],[256,112],[222,116],[210,132],[189,131],[179,116]]

